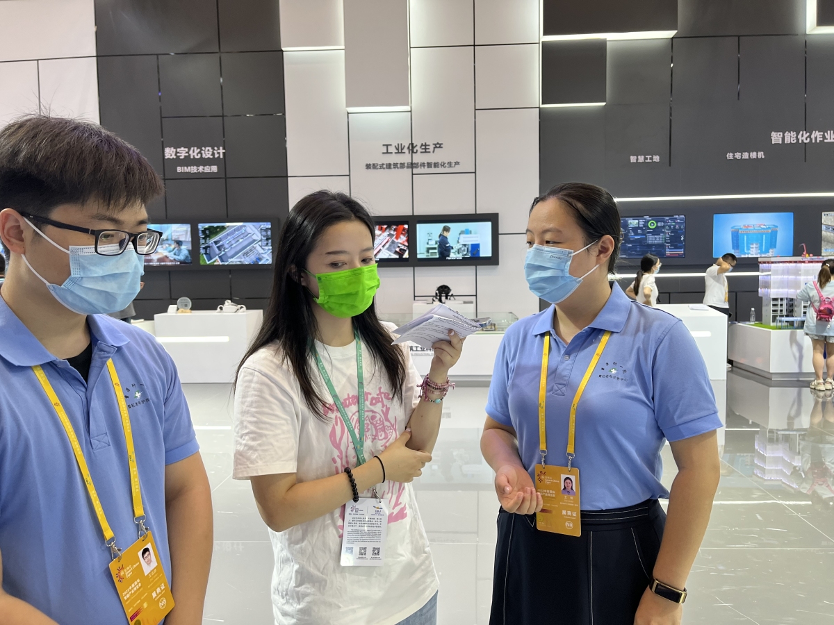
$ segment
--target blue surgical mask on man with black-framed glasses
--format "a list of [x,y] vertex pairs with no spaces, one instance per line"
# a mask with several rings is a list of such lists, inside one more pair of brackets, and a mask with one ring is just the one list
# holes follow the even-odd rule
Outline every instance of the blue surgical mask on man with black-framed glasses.
[[138,295],[144,263],[143,258],[134,253],[130,246],[118,256],[97,254],[93,245],[71,245],[67,250],[48,238],[28,219],[26,223],[49,243],[69,254],[69,278],[61,285],[51,284],[44,279],[34,270],[25,254],[23,262],[47,285],[49,293],[73,313],[118,313],[128,308],[128,304]]

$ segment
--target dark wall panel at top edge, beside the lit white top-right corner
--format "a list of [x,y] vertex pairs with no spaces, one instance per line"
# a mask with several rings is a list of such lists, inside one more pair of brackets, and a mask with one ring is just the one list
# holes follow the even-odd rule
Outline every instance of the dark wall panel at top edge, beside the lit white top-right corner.
[[678,37],[805,32],[805,0],[678,0]]

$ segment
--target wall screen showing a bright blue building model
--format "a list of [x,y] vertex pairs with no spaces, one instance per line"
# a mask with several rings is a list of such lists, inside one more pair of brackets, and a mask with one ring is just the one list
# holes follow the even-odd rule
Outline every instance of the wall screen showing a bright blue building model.
[[712,220],[712,255],[792,256],[793,213],[728,213]]

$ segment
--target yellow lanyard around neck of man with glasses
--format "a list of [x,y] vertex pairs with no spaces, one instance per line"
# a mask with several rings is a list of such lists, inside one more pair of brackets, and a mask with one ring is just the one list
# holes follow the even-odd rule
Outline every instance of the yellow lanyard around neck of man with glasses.
[[[137,523],[137,525],[139,526],[139,536],[141,537],[143,536],[143,534],[148,533],[148,528],[145,527],[144,524],[145,512],[142,506],[142,491],[139,488],[139,472],[136,468],[136,452],[133,449],[133,431],[130,428],[130,416],[128,415],[128,405],[124,401],[122,385],[118,381],[116,367],[115,365],[113,365],[112,359],[108,360],[107,368],[108,372],[110,373],[110,381],[113,383],[113,391],[116,393],[118,410],[122,416],[122,428],[124,430],[124,439],[127,442],[128,446],[128,468],[130,468],[130,488],[133,492],[133,522]],[[67,413],[64,411],[63,406],[61,405],[61,400],[59,400],[58,395],[55,394],[55,391],[52,388],[52,384],[49,383],[46,373],[43,373],[43,368],[41,368],[40,365],[35,365],[32,369],[35,372],[35,375],[38,376],[38,382],[41,383],[43,391],[47,394],[49,401],[52,402],[53,408],[55,408],[55,412],[58,413],[58,418],[61,420],[61,425],[63,425],[64,432],[67,433],[69,443],[73,447],[75,461],[78,463],[78,468],[81,470],[81,477],[84,479],[84,484],[86,484],[87,486],[87,492],[90,495],[90,501],[93,502],[93,509],[96,511],[98,523],[102,527],[104,541],[107,542],[108,547],[110,547],[111,555],[113,557],[117,557],[118,554],[121,552],[121,549],[116,547],[116,537],[113,534],[113,530],[110,528],[110,524],[107,522],[107,517],[104,516],[102,502],[98,499],[98,493],[96,493],[96,488],[95,486],[93,486],[93,478],[90,475],[90,471],[87,467],[87,461],[84,459],[84,453],[81,449],[81,444],[78,443],[78,437],[75,435],[73,424],[70,423],[69,418],[67,417]]]

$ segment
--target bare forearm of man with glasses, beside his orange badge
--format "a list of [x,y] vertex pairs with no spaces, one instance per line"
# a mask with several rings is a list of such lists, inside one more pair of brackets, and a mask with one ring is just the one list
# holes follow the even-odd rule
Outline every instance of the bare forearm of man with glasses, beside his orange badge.
[[214,548],[214,512],[208,479],[166,501],[171,592],[166,625],[200,625]]

